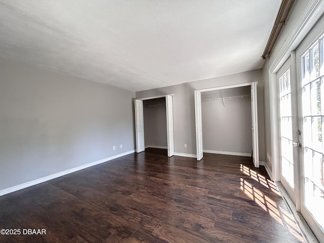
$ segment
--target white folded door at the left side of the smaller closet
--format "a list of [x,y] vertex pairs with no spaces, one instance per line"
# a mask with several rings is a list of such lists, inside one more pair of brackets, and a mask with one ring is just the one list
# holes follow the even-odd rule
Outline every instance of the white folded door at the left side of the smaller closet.
[[136,152],[145,150],[143,101],[135,100]]

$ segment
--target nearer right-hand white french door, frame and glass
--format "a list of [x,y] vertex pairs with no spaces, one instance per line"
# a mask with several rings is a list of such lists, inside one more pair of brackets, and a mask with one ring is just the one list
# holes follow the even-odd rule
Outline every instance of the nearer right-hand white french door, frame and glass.
[[296,49],[299,105],[300,210],[324,242],[324,17]]

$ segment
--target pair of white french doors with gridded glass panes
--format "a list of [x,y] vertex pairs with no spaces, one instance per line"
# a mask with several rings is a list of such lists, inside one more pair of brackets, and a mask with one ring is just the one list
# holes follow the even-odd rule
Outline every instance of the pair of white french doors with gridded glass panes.
[[324,242],[324,18],[277,72],[280,182]]

